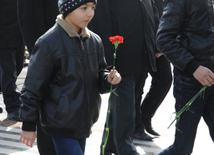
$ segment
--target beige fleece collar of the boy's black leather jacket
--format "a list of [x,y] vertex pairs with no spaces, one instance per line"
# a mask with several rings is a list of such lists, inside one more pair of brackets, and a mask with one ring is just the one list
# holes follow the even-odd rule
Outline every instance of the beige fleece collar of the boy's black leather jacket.
[[[69,35],[69,37],[79,37],[77,32],[62,18],[62,14],[57,16],[56,23],[59,24]],[[90,38],[90,33],[88,28],[82,29],[81,36],[83,38]]]

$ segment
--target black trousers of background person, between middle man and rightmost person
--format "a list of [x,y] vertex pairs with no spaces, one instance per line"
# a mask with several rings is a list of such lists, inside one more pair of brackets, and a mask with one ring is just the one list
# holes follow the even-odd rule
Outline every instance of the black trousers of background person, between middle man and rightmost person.
[[136,88],[136,128],[142,125],[142,119],[151,119],[165,96],[167,95],[172,84],[171,66],[165,56],[161,56],[156,61],[157,72],[149,72],[152,76],[150,90],[142,101],[143,87],[147,75],[135,78]]

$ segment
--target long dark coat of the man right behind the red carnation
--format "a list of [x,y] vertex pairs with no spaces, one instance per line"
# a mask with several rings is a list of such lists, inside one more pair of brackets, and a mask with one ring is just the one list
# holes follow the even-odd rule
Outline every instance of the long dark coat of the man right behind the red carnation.
[[[140,15],[139,17],[142,18],[136,19],[136,15]],[[137,27],[138,23],[133,23],[133,21],[137,22],[138,20],[143,24],[141,28],[138,27],[139,31],[136,33],[133,29]],[[156,70],[156,30],[151,1],[99,0],[95,16],[88,27],[102,38],[105,57],[109,66],[113,63],[114,52],[109,37],[113,35],[124,37],[124,43],[119,45],[116,58],[116,69],[122,75],[140,74],[143,67],[150,71]],[[141,42],[139,42],[138,37],[135,37],[139,34],[142,34]],[[142,50],[139,50],[139,48],[142,48]],[[142,54],[143,52],[146,54]],[[149,59],[147,66],[142,66],[144,55],[147,55],[147,59]]]

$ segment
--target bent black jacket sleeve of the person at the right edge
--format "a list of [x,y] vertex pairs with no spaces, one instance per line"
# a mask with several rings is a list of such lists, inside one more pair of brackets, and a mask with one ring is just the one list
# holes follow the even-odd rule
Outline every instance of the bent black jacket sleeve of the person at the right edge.
[[181,71],[193,72],[199,64],[191,52],[182,47],[176,38],[182,31],[187,13],[186,0],[168,0],[157,32],[157,48]]

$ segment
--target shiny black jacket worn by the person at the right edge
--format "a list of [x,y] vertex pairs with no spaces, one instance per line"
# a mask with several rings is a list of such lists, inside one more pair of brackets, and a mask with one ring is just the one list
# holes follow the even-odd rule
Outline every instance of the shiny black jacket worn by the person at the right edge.
[[192,76],[199,65],[214,71],[214,14],[211,1],[167,0],[157,46],[175,66]]

